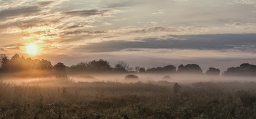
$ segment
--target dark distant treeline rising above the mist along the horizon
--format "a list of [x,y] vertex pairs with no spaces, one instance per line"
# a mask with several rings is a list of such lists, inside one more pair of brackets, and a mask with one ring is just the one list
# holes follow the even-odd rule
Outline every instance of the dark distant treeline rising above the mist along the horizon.
[[[56,65],[48,60],[32,60],[15,54],[11,59],[5,54],[0,54],[0,73],[16,73],[29,70],[48,70],[54,73],[192,73],[219,75],[220,70],[215,67],[209,67],[206,73],[199,65],[187,64],[179,65],[176,68],[173,65],[164,67],[129,67],[126,62],[117,62],[115,67],[111,67],[106,60],[94,60],[91,62],[80,62],[77,65],[67,67],[64,63],[58,62]],[[256,65],[248,63],[241,64],[238,67],[230,67],[222,73],[222,75],[240,75],[240,76],[256,76]]]

